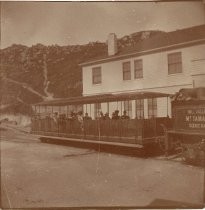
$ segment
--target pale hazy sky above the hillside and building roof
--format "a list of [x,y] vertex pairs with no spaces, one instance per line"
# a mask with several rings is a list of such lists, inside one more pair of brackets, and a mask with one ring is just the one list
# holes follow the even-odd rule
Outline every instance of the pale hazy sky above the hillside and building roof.
[[173,31],[205,23],[202,2],[3,2],[1,48],[105,42],[142,30]]

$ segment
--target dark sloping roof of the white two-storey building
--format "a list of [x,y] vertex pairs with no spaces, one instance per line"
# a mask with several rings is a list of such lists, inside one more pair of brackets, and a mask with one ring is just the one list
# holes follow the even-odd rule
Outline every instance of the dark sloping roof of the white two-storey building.
[[168,49],[192,46],[205,43],[205,24],[191,28],[180,29],[167,33],[159,33],[151,38],[139,41],[137,44],[125,47],[118,51],[116,55],[102,55],[98,59],[90,60],[80,64],[89,66],[98,63],[109,62],[127,57],[143,55],[148,53],[160,52]]

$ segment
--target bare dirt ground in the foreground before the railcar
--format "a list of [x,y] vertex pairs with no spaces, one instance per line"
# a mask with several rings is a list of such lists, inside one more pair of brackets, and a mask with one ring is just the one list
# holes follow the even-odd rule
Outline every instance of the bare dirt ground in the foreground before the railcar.
[[200,167],[45,144],[1,127],[3,208],[144,207],[156,201],[183,207],[203,205],[203,193]]

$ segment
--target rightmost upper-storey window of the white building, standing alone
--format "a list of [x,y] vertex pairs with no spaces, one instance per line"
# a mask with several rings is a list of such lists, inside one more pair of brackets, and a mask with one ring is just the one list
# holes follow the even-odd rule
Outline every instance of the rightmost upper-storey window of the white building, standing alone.
[[168,54],[168,74],[182,72],[182,55],[181,52]]

